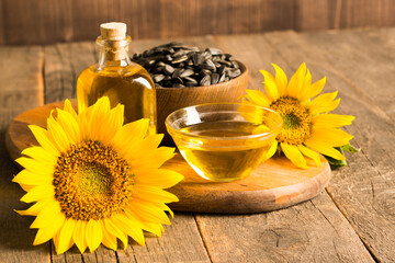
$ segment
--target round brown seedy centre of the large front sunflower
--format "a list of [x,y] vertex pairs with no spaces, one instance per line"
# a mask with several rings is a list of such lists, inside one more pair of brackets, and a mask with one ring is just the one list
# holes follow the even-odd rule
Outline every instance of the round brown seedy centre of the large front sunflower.
[[133,176],[127,161],[111,146],[84,140],[58,158],[53,181],[55,198],[67,218],[108,218],[127,206]]

